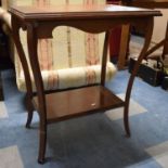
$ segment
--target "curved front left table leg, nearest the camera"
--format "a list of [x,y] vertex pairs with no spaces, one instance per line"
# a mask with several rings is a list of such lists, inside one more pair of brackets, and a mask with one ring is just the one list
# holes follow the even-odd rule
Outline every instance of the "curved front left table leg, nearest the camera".
[[44,99],[43,81],[37,55],[37,24],[27,24],[27,43],[30,65],[33,68],[34,79],[37,88],[38,113],[39,113],[39,156],[38,163],[44,163],[47,147],[47,107]]

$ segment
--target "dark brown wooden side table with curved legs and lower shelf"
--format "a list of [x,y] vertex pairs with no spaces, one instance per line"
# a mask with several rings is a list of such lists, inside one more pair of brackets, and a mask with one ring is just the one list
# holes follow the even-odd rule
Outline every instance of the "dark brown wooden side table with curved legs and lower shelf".
[[[22,63],[25,63],[26,60],[25,54],[23,52],[23,47],[20,41],[18,29],[22,27],[25,30],[27,30],[29,60],[37,87],[37,98],[35,99],[35,102],[37,104],[36,107],[38,108],[40,118],[38,161],[41,164],[44,161],[46,143],[47,143],[47,125],[48,122],[51,121],[67,119],[75,116],[90,114],[95,111],[100,112],[108,109],[109,107],[112,108],[124,105],[125,130],[127,135],[129,137],[130,129],[129,129],[128,108],[129,108],[131,88],[139,65],[145,52],[147,51],[151,41],[151,36],[153,31],[153,17],[159,16],[160,12],[153,10],[119,7],[119,5],[109,5],[109,4],[93,5],[93,7],[86,5],[85,8],[80,5],[64,5],[64,7],[62,5],[62,7],[46,7],[46,8],[13,7],[10,9],[10,12],[12,14],[13,38],[16,43],[16,48],[20,57],[22,60]],[[122,24],[138,25],[145,31],[146,35],[143,50],[137,62],[135,68],[133,69],[132,75],[130,77],[126,92],[126,100],[124,102],[117,99],[115,95],[113,95],[113,93],[111,93],[107,89],[104,88],[108,31],[115,26]],[[94,34],[106,31],[100,87],[82,88],[79,90],[75,89],[70,91],[67,90],[65,92],[60,93],[57,92],[48,95],[44,94],[43,82],[37,55],[37,40],[38,38],[52,38],[53,28],[61,25],[76,27],[83,31]],[[24,73],[27,77],[26,86],[29,95],[33,95],[31,82],[29,81],[30,78],[27,67],[24,68]],[[63,98],[65,102],[60,103],[61,98]],[[78,101],[78,103],[76,103],[75,101]],[[65,106],[62,106],[61,105],[62,103],[64,103]],[[69,103],[72,104],[69,105]],[[82,106],[80,104],[82,104]]]

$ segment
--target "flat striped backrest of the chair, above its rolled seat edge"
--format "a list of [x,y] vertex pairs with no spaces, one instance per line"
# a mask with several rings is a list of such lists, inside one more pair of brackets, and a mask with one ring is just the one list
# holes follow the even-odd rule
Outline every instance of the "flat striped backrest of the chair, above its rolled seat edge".
[[[4,8],[10,5],[59,5],[59,4],[104,4],[106,0],[2,0]],[[21,40],[28,57],[26,33],[21,29]],[[38,55],[41,70],[65,69],[70,67],[98,65],[103,53],[104,34],[93,35],[79,29],[61,26],[53,30],[53,39],[38,41]],[[29,62],[28,62],[29,64]],[[23,68],[15,52],[16,80],[20,86]]]

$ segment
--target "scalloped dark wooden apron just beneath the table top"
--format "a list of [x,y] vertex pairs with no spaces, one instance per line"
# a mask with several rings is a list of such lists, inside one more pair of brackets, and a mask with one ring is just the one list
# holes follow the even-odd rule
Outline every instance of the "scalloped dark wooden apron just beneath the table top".
[[[139,27],[142,31],[145,31],[146,24],[153,20],[153,16],[148,17],[121,17],[121,18],[104,18],[104,20],[70,20],[70,21],[31,21],[26,22],[27,25],[31,25],[38,38],[52,38],[52,31],[59,26],[69,26],[82,31],[91,34],[100,34],[108,31],[119,25],[131,24],[134,27]],[[21,24],[23,29],[25,24]],[[27,27],[27,26],[26,26]]]

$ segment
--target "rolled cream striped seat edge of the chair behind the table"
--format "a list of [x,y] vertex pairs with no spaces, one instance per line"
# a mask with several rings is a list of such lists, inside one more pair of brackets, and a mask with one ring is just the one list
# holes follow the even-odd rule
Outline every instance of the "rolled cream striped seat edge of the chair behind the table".
[[[112,63],[107,63],[106,80],[114,77],[116,67]],[[82,87],[87,85],[100,83],[101,80],[101,65],[91,65],[82,67],[73,67],[55,70],[42,70],[43,85],[46,90],[57,90]],[[33,88],[35,89],[35,81]],[[21,91],[26,90],[23,70],[16,78],[17,87]]]

